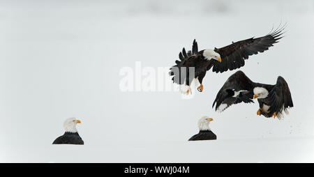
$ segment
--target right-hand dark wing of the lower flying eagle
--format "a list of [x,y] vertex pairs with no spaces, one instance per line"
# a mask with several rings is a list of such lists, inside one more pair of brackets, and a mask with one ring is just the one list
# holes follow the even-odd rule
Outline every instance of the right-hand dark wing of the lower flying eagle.
[[269,105],[269,114],[282,113],[288,107],[293,107],[290,89],[283,77],[278,77],[274,88],[269,92],[267,98],[264,98],[266,105]]

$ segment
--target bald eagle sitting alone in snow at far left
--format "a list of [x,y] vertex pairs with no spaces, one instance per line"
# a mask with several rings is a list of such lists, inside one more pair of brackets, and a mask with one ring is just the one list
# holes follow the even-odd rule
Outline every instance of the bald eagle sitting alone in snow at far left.
[[76,118],[68,118],[63,123],[63,128],[65,130],[61,137],[58,137],[52,144],[84,144],[84,141],[77,133],[76,124],[81,123],[80,120]]

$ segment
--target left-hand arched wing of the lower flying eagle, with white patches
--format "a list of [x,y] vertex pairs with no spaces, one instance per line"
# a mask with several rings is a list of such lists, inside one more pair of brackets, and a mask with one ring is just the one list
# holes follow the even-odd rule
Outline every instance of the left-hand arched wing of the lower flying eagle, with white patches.
[[231,75],[216,95],[213,107],[215,110],[224,111],[227,107],[240,102],[253,102],[253,88],[255,83],[241,70]]

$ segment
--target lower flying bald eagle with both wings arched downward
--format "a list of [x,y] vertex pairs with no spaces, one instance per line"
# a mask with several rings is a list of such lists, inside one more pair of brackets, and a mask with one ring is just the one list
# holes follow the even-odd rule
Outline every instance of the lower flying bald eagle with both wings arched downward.
[[252,82],[241,70],[231,75],[220,88],[214,105],[216,111],[224,111],[227,107],[240,102],[253,102],[257,98],[260,109],[257,115],[281,119],[283,111],[289,114],[287,108],[293,107],[290,89],[283,77],[279,76],[275,85]]

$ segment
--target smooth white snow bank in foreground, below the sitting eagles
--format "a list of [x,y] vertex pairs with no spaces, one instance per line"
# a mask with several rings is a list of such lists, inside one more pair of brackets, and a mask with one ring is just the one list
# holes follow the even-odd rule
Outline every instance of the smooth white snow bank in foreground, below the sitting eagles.
[[2,162],[313,162],[313,138],[15,146]]

